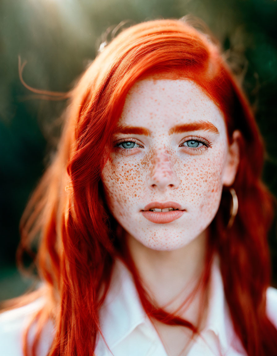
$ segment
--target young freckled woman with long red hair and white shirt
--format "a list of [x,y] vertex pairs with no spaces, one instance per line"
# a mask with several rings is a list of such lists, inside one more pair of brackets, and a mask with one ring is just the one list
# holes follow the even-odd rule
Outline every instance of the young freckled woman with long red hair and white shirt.
[[263,157],[208,35],[121,32],[71,91],[22,217],[42,284],[1,314],[0,355],[277,355]]

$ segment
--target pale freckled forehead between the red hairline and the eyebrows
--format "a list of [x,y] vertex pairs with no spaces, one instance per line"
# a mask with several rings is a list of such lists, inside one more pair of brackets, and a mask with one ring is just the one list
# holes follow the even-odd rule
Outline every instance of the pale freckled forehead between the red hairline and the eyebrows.
[[143,79],[129,90],[119,124],[152,129],[196,120],[225,129],[218,106],[189,79]]

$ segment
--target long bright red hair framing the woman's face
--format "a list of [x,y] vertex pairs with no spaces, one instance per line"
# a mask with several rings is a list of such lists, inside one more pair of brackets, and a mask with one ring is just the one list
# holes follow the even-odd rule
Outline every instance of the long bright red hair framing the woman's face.
[[33,355],[48,318],[55,324],[49,356],[93,355],[100,332],[98,310],[116,257],[133,273],[148,315],[197,332],[197,326],[154,308],[129,252],[117,238],[116,222],[106,208],[100,181],[111,150],[107,143],[128,90],[139,78],[161,72],[194,80],[203,88],[224,114],[229,141],[234,130],[242,133],[233,184],[239,210],[232,227],[226,229],[230,197],[223,192],[210,225],[203,286],[209,280],[210,257],[217,252],[232,322],[247,355],[277,355],[277,330],[266,315],[266,290],[271,281],[267,234],[273,198],[261,182],[262,138],[218,43],[182,20],[148,21],[122,31],[70,92],[56,156],[21,220],[19,251],[30,250],[38,237],[35,262],[44,284],[37,294],[47,295],[47,305],[37,316]]

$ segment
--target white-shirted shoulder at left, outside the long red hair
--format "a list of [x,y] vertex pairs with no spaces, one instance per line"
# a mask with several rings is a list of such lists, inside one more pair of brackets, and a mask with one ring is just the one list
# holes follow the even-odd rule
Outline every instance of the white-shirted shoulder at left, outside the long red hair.
[[0,356],[22,356],[22,336],[32,315],[43,306],[37,299],[23,307],[0,314]]

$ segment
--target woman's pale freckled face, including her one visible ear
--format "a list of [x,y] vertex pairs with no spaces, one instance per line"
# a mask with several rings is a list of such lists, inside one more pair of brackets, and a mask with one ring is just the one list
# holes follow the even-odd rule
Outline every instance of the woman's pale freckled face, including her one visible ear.
[[228,146],[223,114],[197,84],[138,81],[126,97],[101,174],[111,214],[146,247],[187,245],[209,226],[223,185],[235,178],[234,145]]

